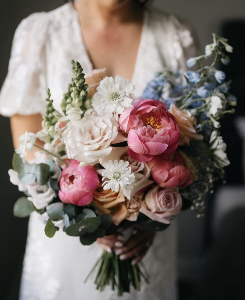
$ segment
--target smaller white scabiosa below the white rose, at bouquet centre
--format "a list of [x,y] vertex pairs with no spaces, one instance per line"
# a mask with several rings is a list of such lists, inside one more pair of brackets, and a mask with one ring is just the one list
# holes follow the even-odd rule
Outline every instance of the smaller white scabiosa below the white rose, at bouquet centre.
[[135,175],[132,173],[131,167],[128,167],[129,162],[123,161],[108,161],[108,163],[104,163],[101,175],[104,176],[104,179],[108,179],[103,183],[104,190],[111,189],[116,193],[119,192],[119,186],[122,190],[127,190],[129,188],[133,188],[133,182],[135,182]]

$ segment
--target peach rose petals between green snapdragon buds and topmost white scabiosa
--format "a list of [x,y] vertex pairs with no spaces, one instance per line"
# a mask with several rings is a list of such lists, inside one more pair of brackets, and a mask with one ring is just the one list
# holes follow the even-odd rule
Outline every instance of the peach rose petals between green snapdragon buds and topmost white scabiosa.
[[106,77],[106,68],[104,69],[95,69],[91,72],[85,74],[85,83],[89,85],[88,97],[92,98],[93,95],[96,93],[96,89],[99,86],[102,79]]

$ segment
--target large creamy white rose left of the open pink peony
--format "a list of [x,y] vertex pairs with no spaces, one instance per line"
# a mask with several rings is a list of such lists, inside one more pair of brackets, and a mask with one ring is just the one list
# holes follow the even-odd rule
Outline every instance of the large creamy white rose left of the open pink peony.
[[63,133],[68,158],[80,161],[82,166],[96,164],[99,158],[111,153],[110,143],[117,134],[118,122],[115,119],[96,113],[85,115],[79,121],[69,123]]

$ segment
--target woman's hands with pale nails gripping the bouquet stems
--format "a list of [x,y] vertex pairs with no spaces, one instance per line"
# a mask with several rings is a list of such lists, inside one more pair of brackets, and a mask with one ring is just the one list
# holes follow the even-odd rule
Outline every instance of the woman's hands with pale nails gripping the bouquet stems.
[[117,255],[120,255],[121,260],[132,259],[131,264],[135,265],[144,257],[152,244],[155,233],[149,231],[142,231],[140,229],[135,229],[131,238],[123,244],[124,236],[121,233],[115,233],[112,235],[104,236],[103,238],[98,238],[97,242],[101,247],[112,252],[115,250]]

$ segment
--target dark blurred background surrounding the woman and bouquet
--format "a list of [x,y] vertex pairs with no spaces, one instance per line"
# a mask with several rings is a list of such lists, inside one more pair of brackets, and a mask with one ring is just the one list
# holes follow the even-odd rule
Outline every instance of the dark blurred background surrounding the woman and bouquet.
[[[0,2],[0,86],[7,73],[14,31],[19,22],[36,11],[52,10],[63,0]],[[236,113],[222,123],[231,165],[226,184],[218,183],[214,194],[206,196],[206,216],[198,219],[187,211],[179,217],[178,286],[180,300],[245,299],[245,1],[172,0],[154,5],[187,19],[197,31],[201,49],[212,43],[215,32],[234,47],[231,64],[223,70],[233,79],[232,93],[238,98]],[[18,298],[27,235],[27,219],[13,217],[13,203],[20,196],[10,184],[13,146],[9,119],[0,116],[1,148],[1,299]]]

